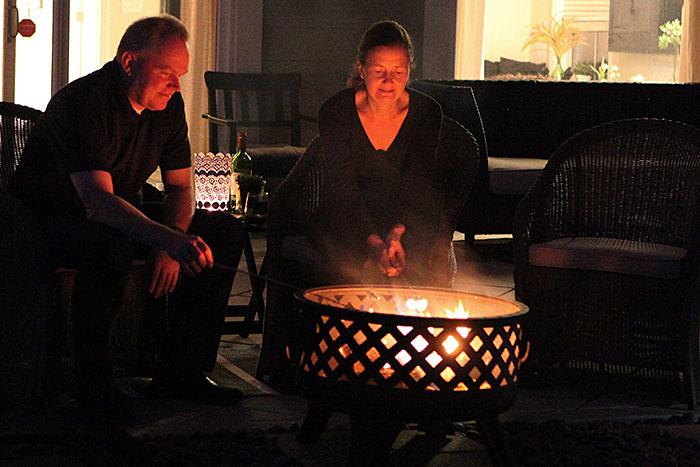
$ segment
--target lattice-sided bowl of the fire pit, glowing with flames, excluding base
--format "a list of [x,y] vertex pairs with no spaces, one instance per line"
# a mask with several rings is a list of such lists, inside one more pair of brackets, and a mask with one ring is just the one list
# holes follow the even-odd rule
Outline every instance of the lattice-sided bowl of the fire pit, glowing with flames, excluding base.
[[517,380],[516,302],[452,290],[342,286],[301,295],[317,315],[304,371],[397,390],[469,392]]

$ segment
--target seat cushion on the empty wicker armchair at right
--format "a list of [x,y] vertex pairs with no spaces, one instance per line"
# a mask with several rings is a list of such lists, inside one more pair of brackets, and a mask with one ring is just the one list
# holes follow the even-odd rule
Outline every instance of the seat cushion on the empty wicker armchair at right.
[[566,237],[530,245],[533,266],[614,272],[659,279],[679,276],[687,250],[605,237]]

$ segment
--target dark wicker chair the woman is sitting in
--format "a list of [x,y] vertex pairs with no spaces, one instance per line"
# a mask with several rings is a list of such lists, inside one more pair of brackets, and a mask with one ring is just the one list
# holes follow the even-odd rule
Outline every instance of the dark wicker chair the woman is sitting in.
[[[330,190],[326,185],[329,167],[320,151],[320,140],[312,141],[272,198],[268,214],[265,264],[269,280],[257,378],[283,393],[299,390],[298,364],[306,329],[294,290],[318,286],[322,281],[316,274],[318,267],[313,265],[314,252],[304,237],[307,222],[313,219],[324,194]],[[457,268],[452,235],[476,177],[479,158],[472,135],[446,117],[438,161],[437,182],[443,188],[444,202],[440,212],[436,212],[441,216],[441,228],[433,247],[434,263],[442,268],[438,272],[439,285],[449,287]],[[311,254],[304,257],[305,253]]]

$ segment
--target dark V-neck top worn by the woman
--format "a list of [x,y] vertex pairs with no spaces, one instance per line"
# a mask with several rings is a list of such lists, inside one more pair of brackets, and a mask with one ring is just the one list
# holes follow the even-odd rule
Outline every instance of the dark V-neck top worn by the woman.
[[[331,181],[332,201],[322,207],[314,230],[319,247],[366,255],[366,238],[382,238],[396,223],[411,260],[424,261],[437,231],[439,196],[432,186],[442,109],[429,96],[409,89],[409,107],[391,145],[377,150],[362,127],[355,90],[328,99],[319,111],[319,132]],[[325,241],[333,238],[333,245]]]

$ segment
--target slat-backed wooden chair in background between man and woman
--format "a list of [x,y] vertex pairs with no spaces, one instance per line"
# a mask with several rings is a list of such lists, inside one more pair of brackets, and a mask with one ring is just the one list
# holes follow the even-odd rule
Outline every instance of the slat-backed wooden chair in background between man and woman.
[[301,122],[315,122],[299,110],[301,74],[207,71],[209,150],[236,151],[239,130],[248,132],[253,172],[273,193],[304,153]]

